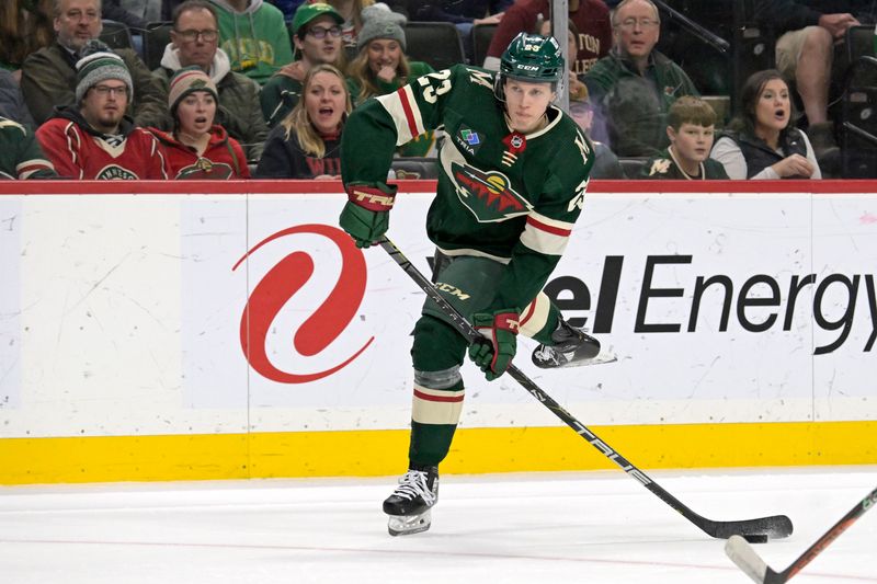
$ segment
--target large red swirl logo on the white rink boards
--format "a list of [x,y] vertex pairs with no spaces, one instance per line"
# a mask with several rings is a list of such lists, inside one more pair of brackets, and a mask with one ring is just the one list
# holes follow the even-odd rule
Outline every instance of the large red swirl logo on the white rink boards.
[[[324,351],[346,329],[365,295],[367,270],[365,257],[345,232],[334,227],[309,224],[278,231],[249,250],[231,268],[234,272],[257,250],[282,237],[314,233],[331,240],[341,252],[341,275],[329,297],[308,317],[293,335],[293,346],[304,356]],[[259,375],[280,383],[307,383],[342,369],[375,340],[369,337],[353,355],[329,369],[296,374],[276,368],[269,359],[265,342],[272,322],[281,309],[314,275],[314,260],[301,251],[293,252],[272,267],[257,284],[240,318],[240,345],[250,366]]]

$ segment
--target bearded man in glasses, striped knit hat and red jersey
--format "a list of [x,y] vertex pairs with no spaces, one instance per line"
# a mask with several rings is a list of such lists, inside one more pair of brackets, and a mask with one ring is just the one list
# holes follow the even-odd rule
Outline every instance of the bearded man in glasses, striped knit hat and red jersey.
[[89,41],[77,64],[76,103],[39,126],[36,138],[60,176],[162,180],[168,164],[155,136],[125,116],[135,95],[122,57]]

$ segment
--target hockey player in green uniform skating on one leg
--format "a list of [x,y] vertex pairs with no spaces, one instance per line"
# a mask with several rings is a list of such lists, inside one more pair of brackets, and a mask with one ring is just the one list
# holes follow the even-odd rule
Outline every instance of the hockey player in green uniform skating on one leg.
[[[465,65],[426,75],[354,110],[342,138],[349,202],[340,225],[367,248],[389,226],[396,186],[385,180],[396,147],[444,126],[426,231],[443,260],[441,288],[459,290],[447,300],[485,333],[469,355],[489,380],[509,367],[519,332],[571,353],[599,350],[540,291],[581,211],[594,158],[576,123],[551,105],[562,72],[554,38],[522,33],[496,78]],[[391,535],[429,529],[437,467],[463,410],[468,342],[446,319],[428,300],[414,327],[410,465],[384,502]]]

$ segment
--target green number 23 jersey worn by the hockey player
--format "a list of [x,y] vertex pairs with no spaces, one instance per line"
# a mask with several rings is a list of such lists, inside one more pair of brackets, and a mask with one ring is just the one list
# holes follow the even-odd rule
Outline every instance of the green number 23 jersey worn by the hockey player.
[[456,65],[354,110],[342,137],[342,178],[345,186],[381,184],[397,146],[443,127],[426,232],[447,255],[505,264],[493,306],[522,309],[566,249],[594,161],[572,118],[555,106],[546,115],[533,134],[512,131],[493,73]]

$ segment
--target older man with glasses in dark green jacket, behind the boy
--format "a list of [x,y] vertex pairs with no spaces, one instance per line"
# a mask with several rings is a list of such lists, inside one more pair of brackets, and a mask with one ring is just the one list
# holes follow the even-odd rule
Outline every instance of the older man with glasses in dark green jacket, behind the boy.
[[660,32],[651,0],[622,1],[612,13],[612,50],[582,78],[594,106],[592,137],[619,157],[667,148],[670,106],[683,95],[699,96],[685,71],[654,50]]

